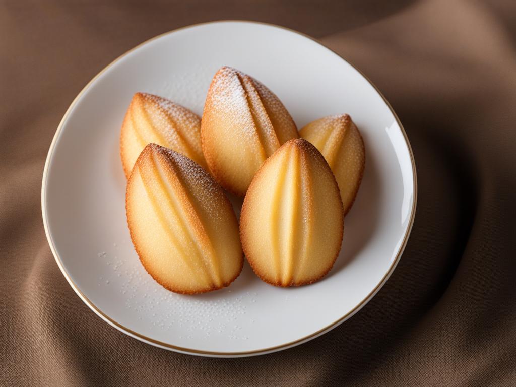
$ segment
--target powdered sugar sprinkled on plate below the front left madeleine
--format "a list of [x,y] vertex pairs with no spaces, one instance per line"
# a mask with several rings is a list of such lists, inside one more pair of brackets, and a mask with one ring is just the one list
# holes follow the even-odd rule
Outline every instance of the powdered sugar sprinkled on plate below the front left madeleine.
[[[118,259],[116,251],[98,254],[105,262],[98,286],[104,292],[116,292],[121,304],[134,316],[138,324],[145,324],[171,333],[183,342],[222,336],[228,340],[247,340],[243,329],[249,322],[246,316],[250,305],[259,298],[255,292],[219,291],[219,297],[184,296],[175,294],[154,281],[143,269],[137,257]],[[244,332],[245,331],[245,332]]]

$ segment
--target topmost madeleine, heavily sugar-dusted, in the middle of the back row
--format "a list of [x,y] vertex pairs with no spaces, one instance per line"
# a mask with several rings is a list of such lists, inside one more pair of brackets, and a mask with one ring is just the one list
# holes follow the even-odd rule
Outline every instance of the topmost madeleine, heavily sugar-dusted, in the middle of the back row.
[[201,137],[215,179],[228,191],[244,196],[265,159],[299,135],[272,91],[247,74],[222,67],[209,86]]

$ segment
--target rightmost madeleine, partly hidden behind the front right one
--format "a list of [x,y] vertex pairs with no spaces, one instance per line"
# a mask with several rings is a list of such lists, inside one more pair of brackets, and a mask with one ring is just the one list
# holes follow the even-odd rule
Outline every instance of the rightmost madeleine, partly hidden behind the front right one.
[[299,134],[326,158],[341,190],[344,215],[357,196],[365,167],[365,148],[357,126],[347,114],[309,123]]

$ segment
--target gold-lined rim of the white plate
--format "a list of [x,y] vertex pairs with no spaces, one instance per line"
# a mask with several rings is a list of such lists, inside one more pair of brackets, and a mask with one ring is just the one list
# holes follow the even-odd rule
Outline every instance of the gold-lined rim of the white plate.
[[[49,227],[48,227],[48,224],[47,224],[47,214],[46,214],[46,205],[45,205],[47,173],[48,173],[48,170],[50,168],[50,160],[52,158],[52,155],[53,155],[53,152],[54,152],[54,148],[56,146],[57,138],[59,137],[59,134],[61,133],[62,127],[64,126],[66,120],[68,119],[68,116],[69,116],[71,110],[76,105],[77,100],[80,98],[80,96],[82,96],[86,92],[86,90],[91,86],[91,84],[97,78],[99,78],[105,71],[107,71],[109,68],[111,68],[113,65],[115,65],[115,63],[118,62],[120,59],[122,59],[126,55],[132,53],[133,51],[137,50],[139,47],[141,47],[141,46],[143,46],[143,45],[145,45],[147,43],[150,43],[153,40],[162,38],[164,36],[167,36],[167,35],[170,35],[170,34],[173,34],[173,33],[176,33],[177,31],[180,31],[180,30],[183,30],[183,29],[188,29],[188,28],[198,27],[198,26],[208,25],[208,24],[219,24],[219,23],[260,24],[260,25],[265,25],[265,26],[269,26],[269,27],[284,29],[286,31],[289,31],[291,33],[300,35],[300,36],[302,36],[304,38],[308,38],[308,39],[314,41],[315,43],[325,47],[327,50],[332,52],[338,58],[342,59],[344,62],[348,63],[354,70],[358,71],[359,74],[362,75],[364,77],[364,79],[367,80],[367,82],[371,86],[373,86],[373,88],[376,90],[378,95],[385,102],[385,104],[387,105],[389,110],[391,110],[391,112],[392,112],[392,114],[393,114],[393,116],[394,116],[394,118],[395,118],[395,120],[396,120],[396,122],[397,122],[397,124],[398,124],[398,126],[400,128],[400,130],[401,130],[401,133],[403,134],[405,143],[407,145],[407,149],[408,149],[410,160],[411,160],[411,164],[412,164],[412,178],[413,178],[413,185],[412,185],[412,191],[413,192],[412,192],[412,194],[413,194],[414,200],[413,200],[413,203],[412,203],[411,215],[410,215],[407,231],[406,231],[406,233],[404,235],[403,241],[402,241],[401,245],[399,246],[399,250],[398,250],[398,252],[396,254],[396,259],[393,260],[393,262],[391,263],[391,266],[389,267],[388,271],[385,273],[385,275],[382,277],[382,279],[379,281],[379,283],[375,286],[375,288],[360,303],[358,303],[356,305],[356,307],[354,307],[352,310],[350,310],[349,312],[347,312],[346,314],[344,314],[342,317],[338,318],[337,320],[335,320],[331,324],[327,325],[326,327],[321,328],[321,329],[319,329],[319,330],[317,330],[317,331],[315,331],[315,332],[313,332],[313,333],[311,333],[309,335],[306,335],[304,337],[298,338],[297,340],[294,340],[294,341],[291,341],[291,342],[288,342],[288,343],[283,343],[283,344],[280,344],[280,345],[277,345],[277,346],[272,346],[272,347],[269,347],[269,348],[254,349],[254,350],[250,350],[250,351],[237,351],[237,352],[219,352],[219,351],[198,350],[198,349],[194,349],[194,348],[180,347],[180,346],[172,345],[172,344],[169,344],[169,343],[161,342],[161,341],[158,341],[158,340],[154,340],[151,337],[147,337],[147,336],[142,335],[142,334],[140,334],[138,332],[135,332],[135,331],[133,331],[133,330],[131,330],[129,328],[124,327],[122,324],[120,324],[119,322],[115,321],[114,319],[112,319],[111,317],[106,315],[104,312],[102,312],[100,309],[98,309],[95,306],[95,304],[93,304],[93,302],[91,302],[84,295],[84,293],[82,291],[80,291],[78,286],[73,282],[73,280],[71,279],[70,275],[68,274],[65,266],[63,265],[63,262],[61,261],[60,256],[57,254],[57,251],[56,251],[54,243],[53,243],[53,238],[52,238],[52,236],[50,234]],[[150,39],[148,39],[146,41],[143,41],[142,43],[134,46],[132,49],[130,49],[130,50],[126,51],[125,53],[123,53],[122,55],[118,56],[116,59],[112,60],[106,67],[104,67],[99,73],[97,73],[93,78],[91,78],[91,80],[82,88],[82,90],[80,90],[80,92],[75,96],[75,98],[73,99],[72,103],[70,104],[70,106],[66,110],[65,114],[61,118],[61,121],[59,122],[59,125],[57,126],[57,130],[56,130],[56,132],[54,134],[54,137],[52,138],[52,142],[50,144],[49,152],[47,153],[47,156],[46,156],[46,159],[45,159],[45,166],[43,168],[43,177],[42,177],[42,185],[41,185],[41,212],[42,212],[42,217],[43,217],[43,227],[45,229],[46,239],[47,239],[47,241],[49,243],[50,250],[52,251],[52,255],[54,255],[54,259],[55,259],[59,269],[61,270],[62,275],[66,278],[66,280],[68,281],[69,285],[72,287],[74,292],[77,294],[77,296],[79,296],[79,298],[86,305],[88,305],[88,307],[96,315],[98,315],[100,318],[102,318],[104,321],[106,321],[112,327],[114,327],[114,328],[118,329],[119,331],[121,331],[121,332],[123,332],[123,333],[125,333],[125,334],[127,334],[127,335],[129,335],[129,336],[131,336],[133,338],[136,338],[137,340],[142,341],[144,343],[147,343],[147,344],[159,347],[159,348],[167,349],[167,350],[172,350],[172,351],[175,351],[175,352],[186,353],[186,354],[197,355],[197,356],[219,357],[219,358],[236,358],[236,357],[257,356],[257,355],[261,355],[261,354],[272,353],[272,352],[277,352],[277,351],[280,351],[280,350],[283,350],[283,349],[291,348],[291,347],[300,345],[302,343],[308,342],[308,341],[312,340],[313,338],[316,338],[316,337],[318,337],[318,336],[320,336],[320,335],[322,335],[322,334],[332,330],[333,328],[337,327],[338,325],[342,324],[344,321],[349,319],[355,313],[360,311],[360,309],[362,309],[365,306],[365,304],[367,304],[376,295],[376,293],[378,293],[378,291],[383,287],[385,282],[392,275],[392,273],[393,273],[394,269],[396,268],[399,260],[401,259],[401,255],[405,251],[405,247],[407,245],[407,241],[409,239],[410,233],[412,231],[412,226],[414,224],[414,218],[415,218],[415,213],[416,213],[416,204],[417,204],[417,174],[416,174],[416,165],[415,165],[415,160],[414,160],[414,154],[412,152],[412,147],[410,145],[410,141],[408,139],[407,133],[405,132],[405,128],[401,124],[401,121],[399,120],[398,116],[396,115],[396,112],[392,108],[392,106],[389,103],[389,101],[382,94],[382,92],[378,89],[378,87],[376,87],[376,85],[360,69],[358,69],[356,66],[354,66],[353,63],[351,63],[349,60],[345,59],[341,55],[337,54],[335,51],[330,49],[328,46],[326,46],[324,43],[322,43],[320,40],[318,40],[316,38],[313,38],[313,37],[311,37],[311,36],[309,36],[307,34],[304,34],[304,33],[301,33],[299,31],[296,31],[296,30],[294,30],[292,28],[280,26],[280,25],[277,25],[277,24],[258,22],[258,21],[250,21],[250,20],[237,20],[237,19],[217,20],[217,21],[196,23],[196,24],[191,24],[191,25],[188,25],[188,26],[183,26],[183,27],[180,27],[180,28],[172,29],[172,30],[167,31],[167,32],[165,32],[163,34],[159,34],[159,35],[154,36],[154,37],[152,37],[152,38],[150,38]]]

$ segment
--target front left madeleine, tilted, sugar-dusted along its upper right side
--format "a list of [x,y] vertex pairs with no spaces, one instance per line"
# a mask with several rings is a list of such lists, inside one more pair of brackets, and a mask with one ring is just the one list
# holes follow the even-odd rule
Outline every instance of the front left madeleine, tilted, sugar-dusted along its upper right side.
[[127,182],[125,206],[141,263],[167,289],[209,292],[238,277],[243,253],[233,207],[188,157],[148,144]]

